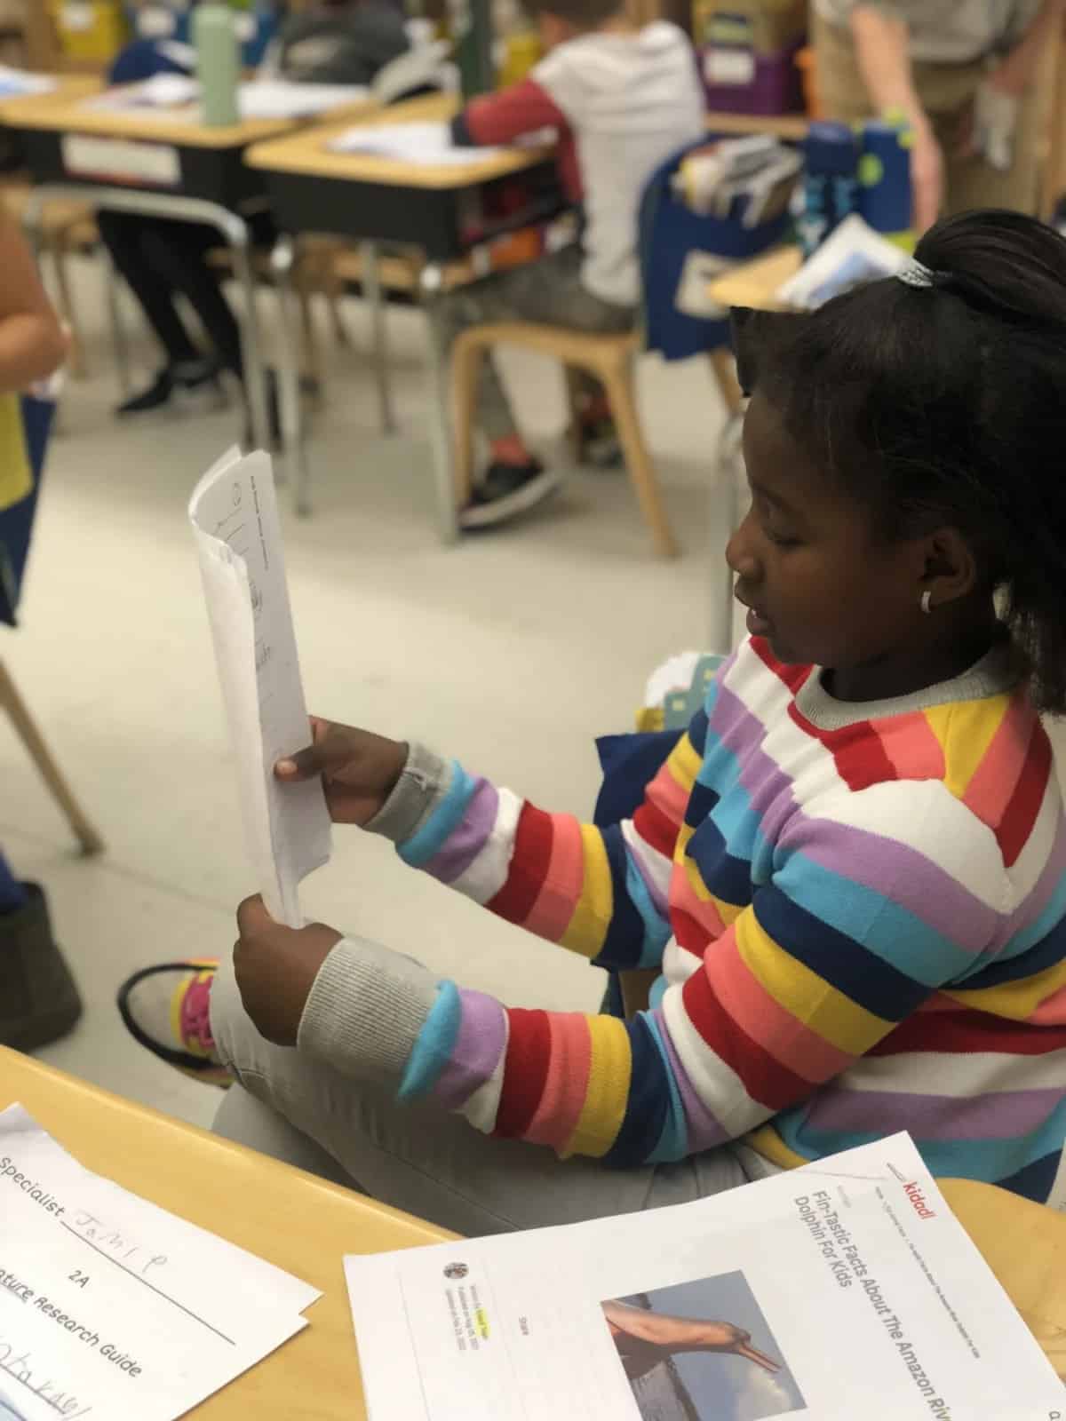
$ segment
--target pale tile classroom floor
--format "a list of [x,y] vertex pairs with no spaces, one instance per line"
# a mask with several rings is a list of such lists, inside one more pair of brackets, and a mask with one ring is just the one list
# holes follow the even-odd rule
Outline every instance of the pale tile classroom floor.
[[[115,988],[135,968],[222,953],[253,885],[185,524],[188,493],[233,441],[236,412],[119,426],[102,296],[78,273],[92,378],[71,384],[17,632],[0,655],[107,837],[80,860],[10,728],[0,725],[0,844],[51,898],[87,1002],[43,1054],[200,1124],[216,1096],[126,1039]],[[647,361],[642,408],[685,544],[657,561],[628,486],[576,475],[550,510],[458,549],[436,543],[429,503],[424,330],[392,314],[401,432],[375,428],[368,323],[348,303],[354,348],[331,352],[313,443],[317,512],[286,516],[293,605],[313,709],[421,736],[536,801],[591,809],[593,737],[624,729],[645,674],[706,642],[714,624],[711,455],[722,412],[701,362]],[[145,344],[144,369],[152,360]],[[561,428],[551,367],[512,364],[529,431]],[[327,922],[377,936],[510,1002],[588,1006],[600,973],[496,922],[409,870],[391,848],[340,833],[306,890]]]

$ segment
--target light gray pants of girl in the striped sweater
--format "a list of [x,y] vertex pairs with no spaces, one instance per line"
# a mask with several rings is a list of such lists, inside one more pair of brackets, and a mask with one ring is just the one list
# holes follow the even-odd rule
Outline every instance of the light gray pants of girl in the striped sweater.
[[237,1077],[219,1108],[217,1134],[456,1233],[687,1204],[769,1172],[745,1145],[679,1164],[608,1169],[578,1155],[559,1160],[543,1145],[482,1135],[439,1107],[398,1104],[387,1088],[263,1040],[240,1005],[229,961],[219,963],[212,986],[210,1022]]

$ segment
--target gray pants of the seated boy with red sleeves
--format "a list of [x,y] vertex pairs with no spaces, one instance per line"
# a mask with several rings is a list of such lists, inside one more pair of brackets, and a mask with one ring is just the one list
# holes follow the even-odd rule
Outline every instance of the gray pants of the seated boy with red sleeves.
[[[429,338],[436,344],[443,368],[448,368],[451,360],[452,341],[473,325],[490,321],[539,321],[590,335],[613,335],[632,330],[635,320],[631,306],[601,301],[581,284],[581,252],[577,246],[456,287],[436,297],[426,310]],[[600,387],[590,375],[576,372],[576,381],[581,392],[598,394]],[[492,357],[482,367],[478,412],[480,428],[489,439],[507,439],[517,433],[515,415]]]

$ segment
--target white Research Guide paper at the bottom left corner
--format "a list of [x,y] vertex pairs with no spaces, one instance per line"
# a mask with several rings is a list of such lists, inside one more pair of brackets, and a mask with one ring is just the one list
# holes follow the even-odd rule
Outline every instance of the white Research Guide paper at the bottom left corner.
[[21,1106],[0,1113],[4,1421],[173,1421],[320,1296],[85,1169]]

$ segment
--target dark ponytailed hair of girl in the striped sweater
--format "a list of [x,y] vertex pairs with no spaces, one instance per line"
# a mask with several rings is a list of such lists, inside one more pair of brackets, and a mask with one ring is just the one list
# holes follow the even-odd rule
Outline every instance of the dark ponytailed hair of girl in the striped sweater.
[[738,361],[878,536],[954,526],[1029,692],[1066,713],[1066,240],[1035,217],[932,227],[897,279],[809,315],[738,315]]

